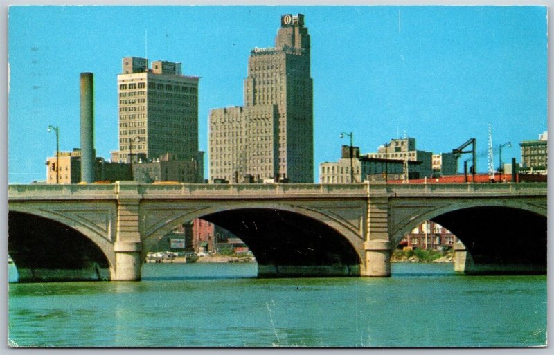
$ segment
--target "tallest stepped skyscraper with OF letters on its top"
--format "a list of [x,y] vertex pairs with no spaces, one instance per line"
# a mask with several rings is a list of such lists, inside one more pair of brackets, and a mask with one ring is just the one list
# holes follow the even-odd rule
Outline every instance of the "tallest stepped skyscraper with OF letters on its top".
[[275,47],[251,50],[244,107],[210,111],[211,181],[313,183],[312,87],[304,15],[283,15]]

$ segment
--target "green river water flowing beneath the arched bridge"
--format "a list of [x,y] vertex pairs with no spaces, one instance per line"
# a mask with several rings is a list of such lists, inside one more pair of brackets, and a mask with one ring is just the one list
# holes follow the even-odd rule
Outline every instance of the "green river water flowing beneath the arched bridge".
[[256,264],[145,264],[141,282],[19,284],[8,336],[39,347],[521,347],[546,343],[546,276],[258,279]]

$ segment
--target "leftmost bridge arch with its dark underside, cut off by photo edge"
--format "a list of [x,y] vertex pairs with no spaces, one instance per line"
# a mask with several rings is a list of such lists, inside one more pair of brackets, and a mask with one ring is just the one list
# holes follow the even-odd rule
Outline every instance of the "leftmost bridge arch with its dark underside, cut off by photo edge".
[[86,224],[56,212],[17,206],[10,206],[8,214],[8,254],[19,281],[113,277],[113,246]]

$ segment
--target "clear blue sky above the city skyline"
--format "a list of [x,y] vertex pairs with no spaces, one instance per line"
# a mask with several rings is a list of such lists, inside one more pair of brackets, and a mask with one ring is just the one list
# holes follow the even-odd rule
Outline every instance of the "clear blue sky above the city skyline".
[[[546,8],[539,6],[15,6],[9,10],[8,182],[46,179],[44,161],[79,146],[79,73],[94,73],[95,146],[118,149],[121,58],[182,62],[199,84],[199,147],[208,111],[242,105],[249,51],[274,45],[280,15],[305,14],[312,41],[314,176],[336,161],[342,131],[361,152],[391,138],[451,152],[476,138],[487,170],[521,158],[547,129]],[[468,157],[463,157],[463,159]],[[461,159],[461,161],[463,160]],[[461,166],[461,163],[458,164]],[[207,166],[207,158],[206,158]],[[207,170],[206,170],[206,178]]]

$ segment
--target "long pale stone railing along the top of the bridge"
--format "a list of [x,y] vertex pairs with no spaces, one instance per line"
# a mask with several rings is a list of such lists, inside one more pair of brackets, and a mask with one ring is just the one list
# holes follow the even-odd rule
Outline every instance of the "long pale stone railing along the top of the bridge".
[[371,197],[440,195],[535,195],[546,196],[546,183],[428,183],[428,184],[139,184],[132,181],[89,185],[8,185],[10,200],[117,199],[134,198],[282,198],[282,197]]

